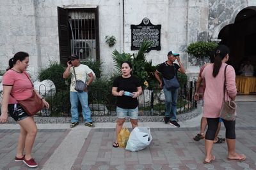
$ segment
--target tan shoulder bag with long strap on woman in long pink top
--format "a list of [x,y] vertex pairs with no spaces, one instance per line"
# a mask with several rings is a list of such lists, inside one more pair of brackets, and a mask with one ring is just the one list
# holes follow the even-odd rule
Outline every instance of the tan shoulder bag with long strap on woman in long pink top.
[[[222,103],[222,107],[221,107],[220,117],[223,118],[224,120],[234,121],[234,120],[236,120],[237,105],[234,101],[228,101],[228,100],[225,101],[227,66],[225,67],[225,71],[224,71],[224,74],[225,74],[224,88],[223,88],[224,97],[223,97],[223,103]],[[227,94],[228,94],[228,92],[227,92]]]

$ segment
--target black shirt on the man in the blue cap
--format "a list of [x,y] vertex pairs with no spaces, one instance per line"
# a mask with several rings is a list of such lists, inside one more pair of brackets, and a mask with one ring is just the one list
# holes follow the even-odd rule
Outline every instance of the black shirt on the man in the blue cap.
[[[175,67],[175,74],[174,74]],[[173,63],[172,66],[167,64],[167,62],[163,62],[160,66],[157,67],[157,71],[162,74],[162,76],[168,80],[172,79],[174,75],[178,74],[178,69],[180,66],[176,63]]]

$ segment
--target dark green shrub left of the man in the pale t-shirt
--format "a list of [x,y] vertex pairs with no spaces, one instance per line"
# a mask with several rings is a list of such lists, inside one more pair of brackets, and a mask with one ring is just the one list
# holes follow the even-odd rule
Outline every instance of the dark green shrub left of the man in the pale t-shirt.
[[65,90],[67,89],[67,85],[65,83],[65,79],[62,77],[65,68],[58,64],[57,62],[51,62],[50,66],[47,69],[43,69],[39,73],[39,80],[51,80],[56,86],[57,90]]

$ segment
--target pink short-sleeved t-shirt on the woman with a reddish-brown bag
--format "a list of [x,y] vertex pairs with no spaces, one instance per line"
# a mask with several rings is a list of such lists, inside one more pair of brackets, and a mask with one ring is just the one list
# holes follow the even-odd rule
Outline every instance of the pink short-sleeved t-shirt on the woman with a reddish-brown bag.
[[23,71],[19,73],[12,69],[9,69],[3,75],[3,85],[12,86],[12,91],[10,96],[9,104],[18,103],[17,100],[24,100],[28,99],[32,95],[32,84],[31,81],[28,79],[28,73]]

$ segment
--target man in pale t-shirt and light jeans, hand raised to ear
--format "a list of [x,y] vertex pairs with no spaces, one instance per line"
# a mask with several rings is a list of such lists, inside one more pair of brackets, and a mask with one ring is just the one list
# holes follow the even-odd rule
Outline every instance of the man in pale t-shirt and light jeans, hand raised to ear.
[[[86,126],[95,127],[92,123],[91,111],[88,106],[88,87],[90,83],[93,81],[93,71],[90,67],[80,64],[79,57],[77,55],[71,55],[68,57],[67,69],[63,73],[63,78],[68,78],[71,74],[71,84],[70,84],[70,103],[71,103],[71,125],[70,127],[76,127],[79,124],[78,117],[78,101],[80,101],[82,109],[83,109],[83,118]],[[75,77],[76,74],[76,77]],[[86,80],[87,75],[89,79]],[[82,80],[86,83],[86,87],[83,92],[77,92],[75,90],[76,80]]]

